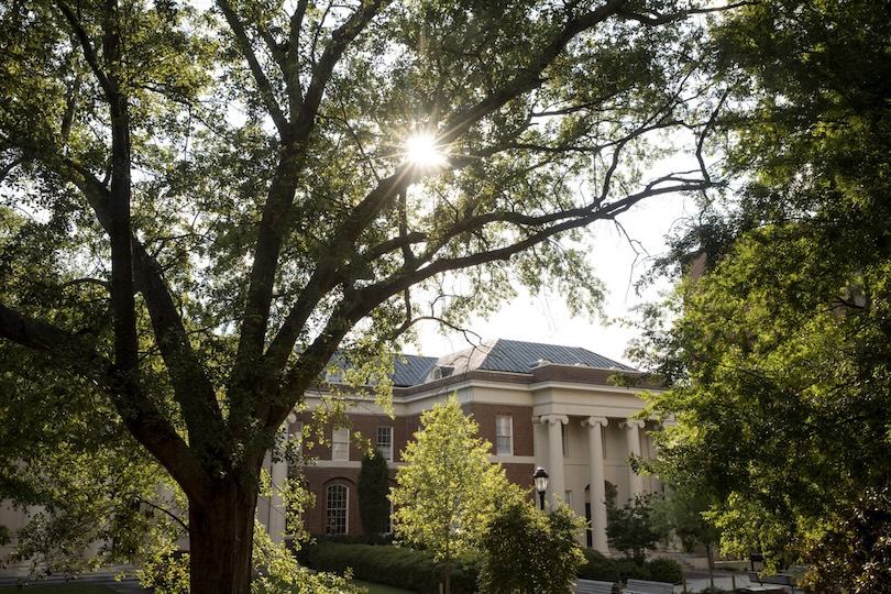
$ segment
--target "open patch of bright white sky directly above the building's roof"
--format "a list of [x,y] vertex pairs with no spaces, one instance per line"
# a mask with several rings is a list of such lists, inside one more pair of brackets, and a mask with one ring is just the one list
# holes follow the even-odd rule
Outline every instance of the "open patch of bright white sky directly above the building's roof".
[[[610,222],[593,227],[594,251],[592,262],[606,286],[605,311],[608,318],[634,316],[635,305],[651,301],[660,289],[669,285],[650,287],[641,297],[635,294],[634,282],[649,266],[650,257],[664,251],[664,238],[678,219],[690,215],[693,206],[681,197],[658,198],[642,202],[619,217],[628,238],[639,243],[640,255],[635,254],[628,238]],[[637,258],[637,260],[636,260]],[[544,342],[568,346],[582,346],[609,359],[628,363],[625,349],[636,334],[634,329],[614,322],[604,324],[586,318],[571,318],[560,295],[519,296],[488,320],[474,320],[470,330],[483,340],[513,339]],[[420,327],[421,352],[439,356],[469,346],[463,334],[442,336],[432,324]],[[475,339],[474,339],[475,340]]]

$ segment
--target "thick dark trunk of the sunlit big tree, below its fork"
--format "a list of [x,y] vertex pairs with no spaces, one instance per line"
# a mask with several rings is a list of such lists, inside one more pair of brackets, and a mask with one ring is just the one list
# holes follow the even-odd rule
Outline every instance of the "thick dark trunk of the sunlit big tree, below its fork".
[[249,594],[256,488],[232,477],[189,498],[191,594]]

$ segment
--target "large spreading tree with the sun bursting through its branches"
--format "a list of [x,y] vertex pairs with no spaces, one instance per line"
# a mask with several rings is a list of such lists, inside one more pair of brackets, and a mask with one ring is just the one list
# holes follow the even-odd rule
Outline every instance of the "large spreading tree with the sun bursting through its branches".
[[710,130],[698,4],[0,7],[0,338],[183,488],[193,592],[246,592],[264,453],[338,349],[460,323],[512,278],[596,305],[573,233],[713,183],[646,173]]

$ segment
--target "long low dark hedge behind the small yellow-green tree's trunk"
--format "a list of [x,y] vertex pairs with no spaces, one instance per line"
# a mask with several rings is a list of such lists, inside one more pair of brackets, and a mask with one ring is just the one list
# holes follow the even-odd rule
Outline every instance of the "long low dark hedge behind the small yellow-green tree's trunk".
[[[437,594],[442,583],[443,563],[436,562],[429,551],[404,547],[319,541],[307,544],[297,553],[297,559],[316,570],[339,574],[350,570],[359,580],[420,594]],[[450,572],[452,592],[476,592],[479,569],[474,558],[453,560]]]

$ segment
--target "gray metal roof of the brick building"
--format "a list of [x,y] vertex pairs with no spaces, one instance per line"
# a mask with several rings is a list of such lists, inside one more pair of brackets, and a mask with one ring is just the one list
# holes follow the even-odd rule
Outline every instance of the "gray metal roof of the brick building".
[[579,346],[561,346],[519,340],[484,341],[457,353],[427,358],[400,355],[396,359],[394,382],[397,386],[414,386],[428,381],[435,366],[448,369],[451,373],[466,373],[474,370],[507,373],[529,373],[540,364],[584,365],[602,370],[636,371],[618,361]]

